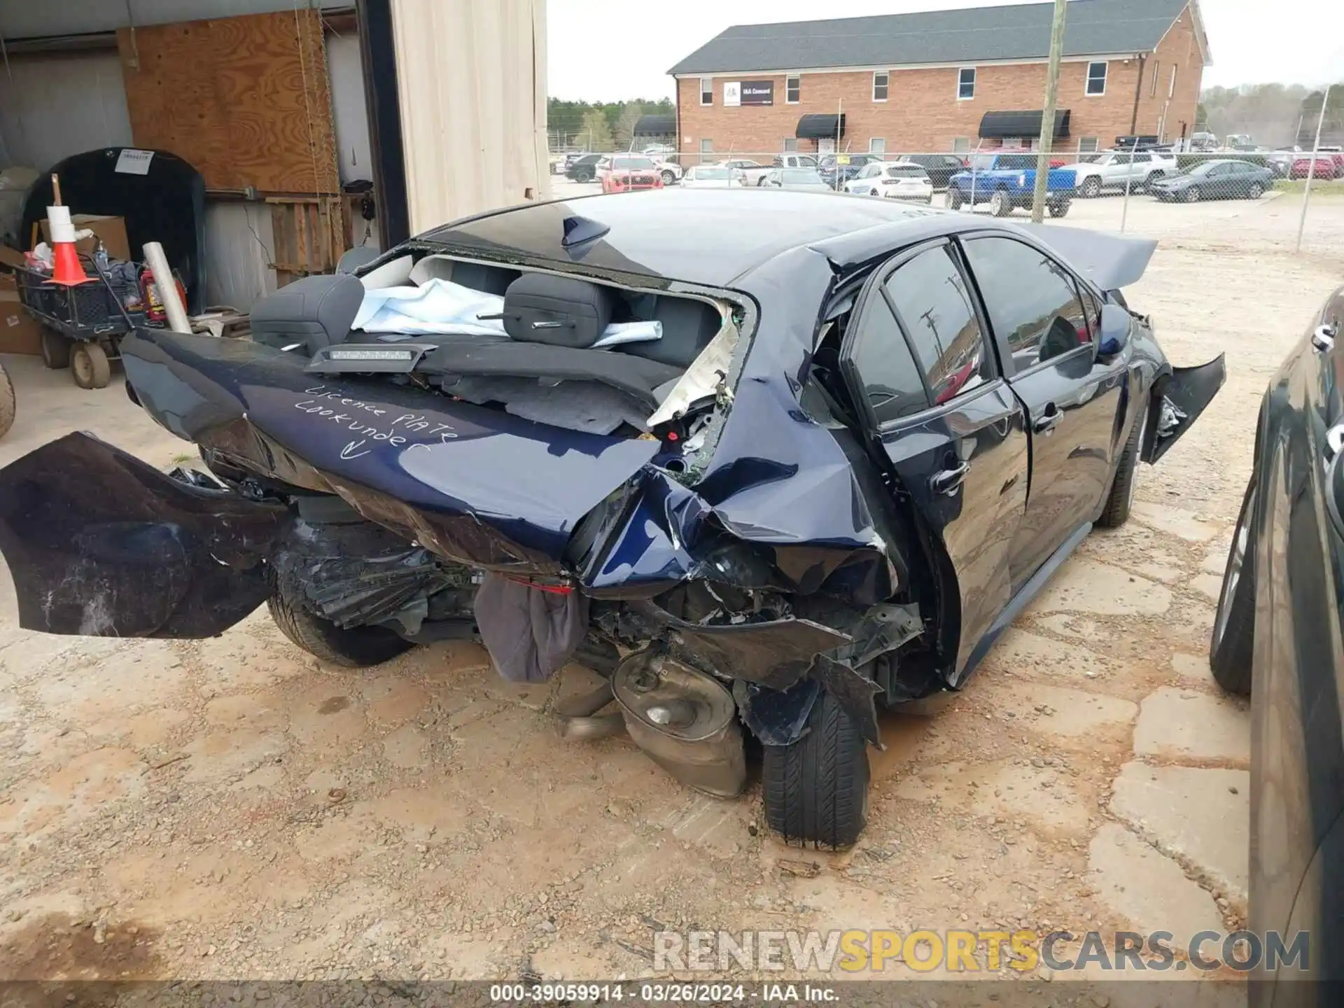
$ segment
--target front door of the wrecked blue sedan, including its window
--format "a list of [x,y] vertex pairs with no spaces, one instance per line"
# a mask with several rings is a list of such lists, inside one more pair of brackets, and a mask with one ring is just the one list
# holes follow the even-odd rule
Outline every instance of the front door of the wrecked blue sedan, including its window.
[[1052,255],[1004,234],[972,235],[962,247],[1031,437],[1027,509],[1009,556],[1016,591],[1086,528],[1110,489],[1128,359],[1097,358],[1099,308]]

